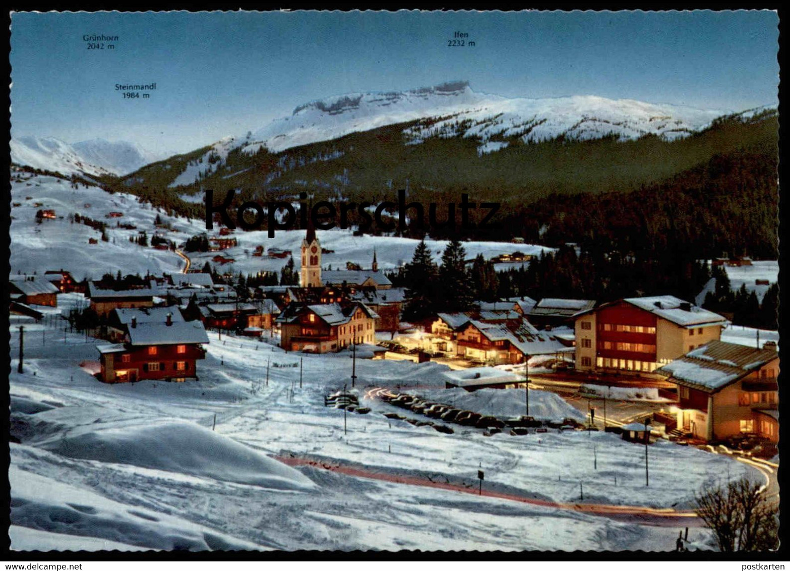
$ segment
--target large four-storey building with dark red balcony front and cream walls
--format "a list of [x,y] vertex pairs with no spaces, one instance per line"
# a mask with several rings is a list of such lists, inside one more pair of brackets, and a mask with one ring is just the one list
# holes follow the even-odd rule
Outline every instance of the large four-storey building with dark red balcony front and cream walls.
[[655,376],[661,365],[717,341],[727,323],[674,296],[602,304],[576,317],[576,369]]

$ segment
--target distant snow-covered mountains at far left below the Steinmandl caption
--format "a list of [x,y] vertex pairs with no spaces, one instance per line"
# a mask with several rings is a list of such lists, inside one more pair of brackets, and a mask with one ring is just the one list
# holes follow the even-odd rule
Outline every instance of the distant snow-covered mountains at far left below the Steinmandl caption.
[[164,158],[126,141],[95,138],[73,144],[54,137],[11,139],[11,161],[63,174],[125,175]]

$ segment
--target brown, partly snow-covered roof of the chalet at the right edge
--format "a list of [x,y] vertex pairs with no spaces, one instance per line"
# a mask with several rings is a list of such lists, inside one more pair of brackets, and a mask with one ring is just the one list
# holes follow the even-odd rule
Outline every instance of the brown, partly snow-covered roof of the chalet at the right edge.
[[716,392],[778,358],[779,354],[773,349],[711,341],[656,372],[684,387]]

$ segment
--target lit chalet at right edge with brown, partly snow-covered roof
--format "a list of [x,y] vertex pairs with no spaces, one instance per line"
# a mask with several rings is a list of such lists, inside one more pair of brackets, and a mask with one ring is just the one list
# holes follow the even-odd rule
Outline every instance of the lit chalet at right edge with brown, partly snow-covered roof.
[[711,341],[656,370],[678,386],[677,426],[704,441],[779,437],[779,354]]

